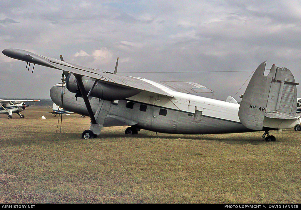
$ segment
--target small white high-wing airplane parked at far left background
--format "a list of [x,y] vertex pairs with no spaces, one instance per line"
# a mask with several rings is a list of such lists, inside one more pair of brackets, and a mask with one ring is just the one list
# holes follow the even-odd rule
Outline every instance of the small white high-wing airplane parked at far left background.
[[0,99],[0,113],[7,114],[8,119],[11,119],[12,113],[16,113],[20,116],[20,118],[25,118],[24,115],[21,115],[20,112],[23,112],[26,107],[24,102],[35,102],[40,100],[5,100]]

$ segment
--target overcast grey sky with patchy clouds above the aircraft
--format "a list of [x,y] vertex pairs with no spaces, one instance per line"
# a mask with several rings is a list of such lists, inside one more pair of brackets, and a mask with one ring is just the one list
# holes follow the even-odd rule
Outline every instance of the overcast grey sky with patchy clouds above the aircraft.
[[[67,62],[111,72],[119,57],[120,75],[197,82],[214,91],[210,98],[231,95],[237,101],[251,71],[267,61],[266,69],[275,64],[293,73],[301,97],[299,0],[0,4],[1,51],[17,48],[57,59],[62,54]],[[185,71],[209,72],[174,73]],[[42,66],[28,72],[26,62],[1,53],[0,98],[50,98],[61,74]]]

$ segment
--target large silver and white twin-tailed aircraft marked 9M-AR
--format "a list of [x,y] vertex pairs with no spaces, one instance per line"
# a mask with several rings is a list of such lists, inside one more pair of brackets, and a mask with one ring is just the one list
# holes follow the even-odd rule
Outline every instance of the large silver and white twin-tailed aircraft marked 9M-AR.
[[[275,141],[270,130],[294,128],[297,91],[287,68],[265,64],[254,72],[240,104],[204,98],[191,93],[210,92],[194,82],[154,82],[120,76],[37,55],[20,49],[5,49],[4,55],[27,63],[68,72],[61,107],[90,116],[90,129],[82,138],[94,138],[103,126],[128,125],[126,134],[140,129],[172,134],[219,134],[264,131],[266,141]],[[61,102],[62,85],[50,96]]]

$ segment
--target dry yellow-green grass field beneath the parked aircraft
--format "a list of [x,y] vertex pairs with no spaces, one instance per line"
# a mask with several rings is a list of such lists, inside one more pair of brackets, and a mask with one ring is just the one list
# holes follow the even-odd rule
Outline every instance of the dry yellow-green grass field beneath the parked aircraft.
[[[170,135],[104,128],[28,107],[0,116],[0,203],[300,203],[300,134],[293,129]],[[46,119],[41,119],[42,115]],[[60,125],[60,123],[59,123]],[[60,128],[58,128],[60,131]]]

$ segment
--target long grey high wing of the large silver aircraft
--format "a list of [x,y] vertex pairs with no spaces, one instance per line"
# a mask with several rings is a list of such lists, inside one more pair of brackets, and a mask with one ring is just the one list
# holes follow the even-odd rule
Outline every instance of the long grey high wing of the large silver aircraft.
[[160,88],[157,85],[148,82],[146,79],[131,77],[131,76],[121,76],[117,74],[110,74],[95,69],[82,67],[76,64],[67,63],[65,61],[57,60],[55,58],[49,58],[42,55],[37,55],[32,52],[28,52],[21,49],[4,49],[2,53],[8,57],[15,58],[21,61],[26,61],[29,64],[38,64],[50,68],[55,68],[58,70],[68,71],[73,74],[80,76],[88,76],[94,79],[98,79],[101,82],[113,84],[116,86],[127,87],[132,89],[138,89],[142,91],[148,91],[156,93],[159,95],[167,96],[173,98],[164,89],[184,92],[184,93],[204,93],[204,92],[213,92],[203,85],[199,85],[194,82],[160,82],[164,87]]

